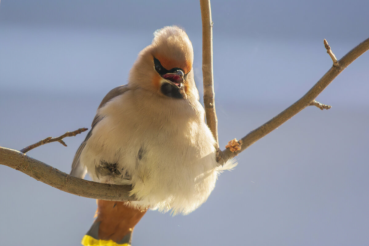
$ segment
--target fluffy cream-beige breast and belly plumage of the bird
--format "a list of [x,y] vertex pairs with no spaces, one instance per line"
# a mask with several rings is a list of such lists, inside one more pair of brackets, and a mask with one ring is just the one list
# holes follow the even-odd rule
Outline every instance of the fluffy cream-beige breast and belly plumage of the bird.
[[[139,200],[132,206],[190,213],[206,201],[217,174],[234,167],[229,161],[218,168],[214,138],[197,100],[153,97],[134,89],[109,101],[98,114],[104,118],[94,127],[81,162],[94,181],[131,184],[131,194]],[[101,160],[118,163],[132,179],[99,176]]]

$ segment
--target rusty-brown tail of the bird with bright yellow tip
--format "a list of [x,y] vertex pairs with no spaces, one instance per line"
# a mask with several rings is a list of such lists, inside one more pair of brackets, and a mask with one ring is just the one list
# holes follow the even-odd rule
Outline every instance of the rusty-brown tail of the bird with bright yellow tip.
[[146,209],[127,202],[97,200],[97,218],[82,239],[84,246],[130,246],[132,231]]

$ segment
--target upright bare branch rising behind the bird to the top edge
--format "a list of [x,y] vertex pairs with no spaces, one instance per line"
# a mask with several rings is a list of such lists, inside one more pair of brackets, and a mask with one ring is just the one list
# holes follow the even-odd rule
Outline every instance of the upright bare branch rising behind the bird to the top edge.
[[214,104],[213,81],[213,22],[211,21],[210,0],[200,0],[201,20],[203,23],[203,85],[206,123],[217,142],[219,150],[218,120]]

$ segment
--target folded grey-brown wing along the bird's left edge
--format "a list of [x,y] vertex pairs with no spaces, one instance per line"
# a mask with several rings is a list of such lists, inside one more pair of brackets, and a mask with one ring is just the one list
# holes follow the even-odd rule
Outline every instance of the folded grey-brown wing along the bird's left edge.
[[[110,90],[110,92],[108,92],[106,96],[103,98],[103,100],[101,101],[98,109],[100,109],[100,107],[104,106],[107,102],[109,102],[111,99],[115,98],[116,96],[122,95],[127,90],[128,90],[128,85],[121,85],[121,86],[114,88],[113,90]],[[96,124],[99,123],[100,120],[102,120],[103,118],[104,118],[104,115],[99,115],[99,113],[97,113],[95,118],[93,119],[91,130],[89,131],[89,133],[87,133],[86,139],[81,143],[81,145],[79,146],[73,158],[72,171],[70,171],[70,175],[73,175],[78,178],[85,177],[87,169],[80,162],[79,158],[80,158],[83,148],[86,146],[87,141],[92,135],[92,130],[94,126],[96,126]]]

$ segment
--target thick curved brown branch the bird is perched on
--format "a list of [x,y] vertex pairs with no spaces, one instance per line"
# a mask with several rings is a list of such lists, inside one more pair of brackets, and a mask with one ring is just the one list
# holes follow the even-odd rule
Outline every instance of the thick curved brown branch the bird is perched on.
[[0,164],[14,168],[61,191],[109,201],[135,201],[131,185],[103,184],[73,177],[17,150],[0,147]]

